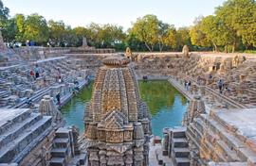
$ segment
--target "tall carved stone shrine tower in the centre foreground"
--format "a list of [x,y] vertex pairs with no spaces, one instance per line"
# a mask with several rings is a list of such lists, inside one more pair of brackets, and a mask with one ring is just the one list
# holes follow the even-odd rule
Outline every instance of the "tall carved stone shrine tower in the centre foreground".
[[89,164],[148,165],[148,109],[140,101],[128,58],[105,58],[84,114]]

